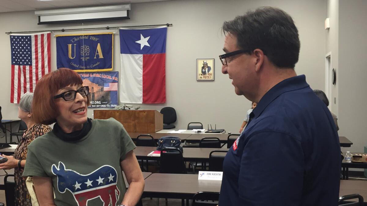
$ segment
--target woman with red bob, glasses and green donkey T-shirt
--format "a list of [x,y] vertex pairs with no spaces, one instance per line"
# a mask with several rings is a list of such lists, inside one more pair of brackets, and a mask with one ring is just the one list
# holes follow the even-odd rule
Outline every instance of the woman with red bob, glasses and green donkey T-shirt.
[[115,119],[87,118],[89,88],[82,84],[66,68],[37,83],[33,119],[55,125],[29,144],[23,176],[33,177],[40,205],[136,205],[144,179],[135,145]]

